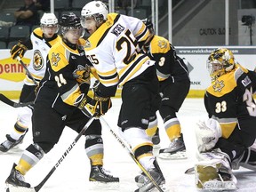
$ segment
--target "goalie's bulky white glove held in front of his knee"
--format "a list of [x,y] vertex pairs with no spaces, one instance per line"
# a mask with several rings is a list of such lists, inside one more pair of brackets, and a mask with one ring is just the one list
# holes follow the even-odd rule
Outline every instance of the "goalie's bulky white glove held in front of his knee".
[[196,143],[199,152],[213,148],[221,137],[221,127],[215,119],[207,119],[196,126]]

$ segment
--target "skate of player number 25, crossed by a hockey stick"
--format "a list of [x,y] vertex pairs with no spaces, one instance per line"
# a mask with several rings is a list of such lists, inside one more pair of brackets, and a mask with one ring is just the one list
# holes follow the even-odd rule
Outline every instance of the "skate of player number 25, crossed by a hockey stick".
[[[148,169],[148,173],[156,181],[159,187],[165,191],[164,175],[161,172],[160,167],[157,164],[156,160],[154,161],[154,165],[155,165],[154,168]],[[149,192],[156,189],[156,186],[154,185],[154,183],[151,180],[149,180],[144,173],[140,174],[139,176],[136,176],[135,182],[139,186],[139,188],[137,188],[135,192]]]

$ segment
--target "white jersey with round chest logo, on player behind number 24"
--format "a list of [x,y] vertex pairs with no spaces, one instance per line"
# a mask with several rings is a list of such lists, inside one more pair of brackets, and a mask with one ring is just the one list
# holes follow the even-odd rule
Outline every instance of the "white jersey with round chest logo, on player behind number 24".
[[[51,38],[45,38],[42,29],[36,28],[30,35],[30,42],[32,44],[33,57],[28,65],[28,71],[39,82],[44,77],[47,54],[53,44],[60,42],[60,36],[55,34]],[[32,79],[28,76],[26,76],[24,83],[34,85]]]

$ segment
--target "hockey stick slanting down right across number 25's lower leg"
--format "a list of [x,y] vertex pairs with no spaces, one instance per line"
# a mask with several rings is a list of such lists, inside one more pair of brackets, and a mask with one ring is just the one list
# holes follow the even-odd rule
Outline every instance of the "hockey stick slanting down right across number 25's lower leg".
[[[141,170],[142,172],[144,172],[144,173],[148,176],[148,179],[151,180],[151,182],[156,186],[156,188],[157,188],[160,192],[164,192],[164,190],[163,190],[162,188],[160,188],[160,186],[156,183],[156,180],[154,180],[154,178],[150,175],[150,173],[149,173],[149,172],[142,166],[142,164],[140,164],[140,162],[136,159],[136,157],[134,156],[134,154],[133,154],[133,152],[131,151],[131,149],[128,148],[128,147],[125,145],[124,141],[116,134],[116,132],[114,132],[113,129],[111,129],[111,127],[108,125],[108,123],[106,122],[106,120],[105,120],[102,116],[100,116],[100,121],[102,121],[104,124],[107,125],[107,127],[108,127],[109,131],[112,133],[112,135],[113,135],[113,136],[116,138],[116,140],[121,144],[121,146],[122,146],[123,148],[125,148],[125,149],[128,151],[129,155],[132,157],[132,160],[133,160],[136,164],[138,164],[138,166],[140,167],[140,170]],[[137,189],[137,190],[138,190],[138,189]],[[136,190],[136,191],[137,191],[137,190]]]

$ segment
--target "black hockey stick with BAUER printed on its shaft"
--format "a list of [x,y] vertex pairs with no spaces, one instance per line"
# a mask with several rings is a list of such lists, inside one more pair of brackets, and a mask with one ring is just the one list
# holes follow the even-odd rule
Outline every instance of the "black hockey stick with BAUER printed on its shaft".
[[65,150],[63,155],[57,161],[57,163],[52,167],[52,170],[50,172],[48,172],[48,174],[44,177],[44,180],[42,180],[36,187],[34,187],[34,188],[23,188],[23,187],[7,188],[6,192],[37,192],[37,191],[39,191],[44,186],[44,183],[47,180],[49,180],[49,178],[52,176],[52,173],[55,172],[56,169],[60,166],[60,164],[63,162],[63,160],[66,158],[66,156],[68,156],[68,153],[71,151],[71,149],[75,147],[76,142],[81,138],[81,136],[84,134],[84,132],[90,126],[90,124],[92,124],[93,120],[95,119],[95,116],[97,116],[96,113],[90,117],[87,124],[84,125],[84,128],[76,136],[75,140],[72,141],[72,143],[68,146],[68,148]]

